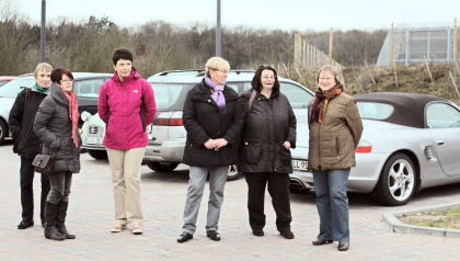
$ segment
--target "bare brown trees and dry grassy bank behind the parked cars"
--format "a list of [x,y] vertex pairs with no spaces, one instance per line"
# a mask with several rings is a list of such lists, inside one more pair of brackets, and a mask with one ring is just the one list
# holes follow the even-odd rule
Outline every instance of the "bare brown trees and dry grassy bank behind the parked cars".
[[[0,0],[0,76],[18,76],[33,71],[39,61],[37,24],[28,22],[12,0]],[[290,68],[294,60],[295,33],[281,30],[254,30],[249,26],[222,29],[222,57],[233,69],[252,69],[261,64],[274,65],[281,76],[315,89],[318,68]],[[308,44],[329,52],[329,32],[301,32]],[[392,68],[372,67],[376,64],[387,30],[334,32],[333,59],[344,66],[346,91],[350,94],[379,91],[427,93],[449,100],[459,98],[449,78],[449,70],[460,87],[458,67],[430,65],[433,81],[426,67],[396,68],[398,84]],[[134,65],[143,78],[172,69],[202,69],[215,55],[215,27],[195,23],[179,27],[153,21],[138,27],[119,27],[108,18],[91,16],[73,22],[61,19],[46,27],[46,61],[71,71],[112,72],[112,53],[127,47],[135,53]]]

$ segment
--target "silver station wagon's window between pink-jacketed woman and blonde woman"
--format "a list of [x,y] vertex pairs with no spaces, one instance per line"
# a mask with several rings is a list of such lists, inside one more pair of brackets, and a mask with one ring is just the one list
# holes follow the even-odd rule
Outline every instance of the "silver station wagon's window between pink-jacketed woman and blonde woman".
[[158,110],[182,110],[184,106],[185,94],[192,84],[184,83],[158,83],[150,82],[154,91],[154,100]]

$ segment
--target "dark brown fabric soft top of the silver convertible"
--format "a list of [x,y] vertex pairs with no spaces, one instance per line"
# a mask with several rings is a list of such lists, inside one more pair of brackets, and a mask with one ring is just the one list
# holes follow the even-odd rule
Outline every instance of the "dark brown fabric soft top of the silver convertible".
[[406,92],[372,92],[356,94],[356,102],[376,102],[386,103],[394,107],[393,113],[384,120],[378,120],[394,123],[409,127],[425,127],[425,107],[432,102],[449,103],[446,99]]

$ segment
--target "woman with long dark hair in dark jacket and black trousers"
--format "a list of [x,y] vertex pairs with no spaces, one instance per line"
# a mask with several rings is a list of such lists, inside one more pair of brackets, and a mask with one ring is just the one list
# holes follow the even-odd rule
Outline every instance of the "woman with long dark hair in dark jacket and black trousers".
[[283,237],[290,230],[289,174],[292,172],[290,148],[296,148],[296,115],[286,95],[279,91],[276,70],[258,67],[252,89],[240,98],[245,114],[240,146],[239,171],[244,172],[249,192],[248,209],[254,236],[264,236],[265,186],[276,212],[276,227]]

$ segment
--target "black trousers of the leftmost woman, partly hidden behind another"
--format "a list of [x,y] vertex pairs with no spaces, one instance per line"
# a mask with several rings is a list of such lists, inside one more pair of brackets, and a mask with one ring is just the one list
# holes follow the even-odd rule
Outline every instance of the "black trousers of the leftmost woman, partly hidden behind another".
[[[32,162],[34,158],[27,158],[21,156],[21,205],[22,205],[22,218],[34,219],[34,167]],[[45,202],[49,192],[49,178],[48,174],[42,175],[42,198],[41,198],[41,211],[39,217],[44,220],[45,216]]]

